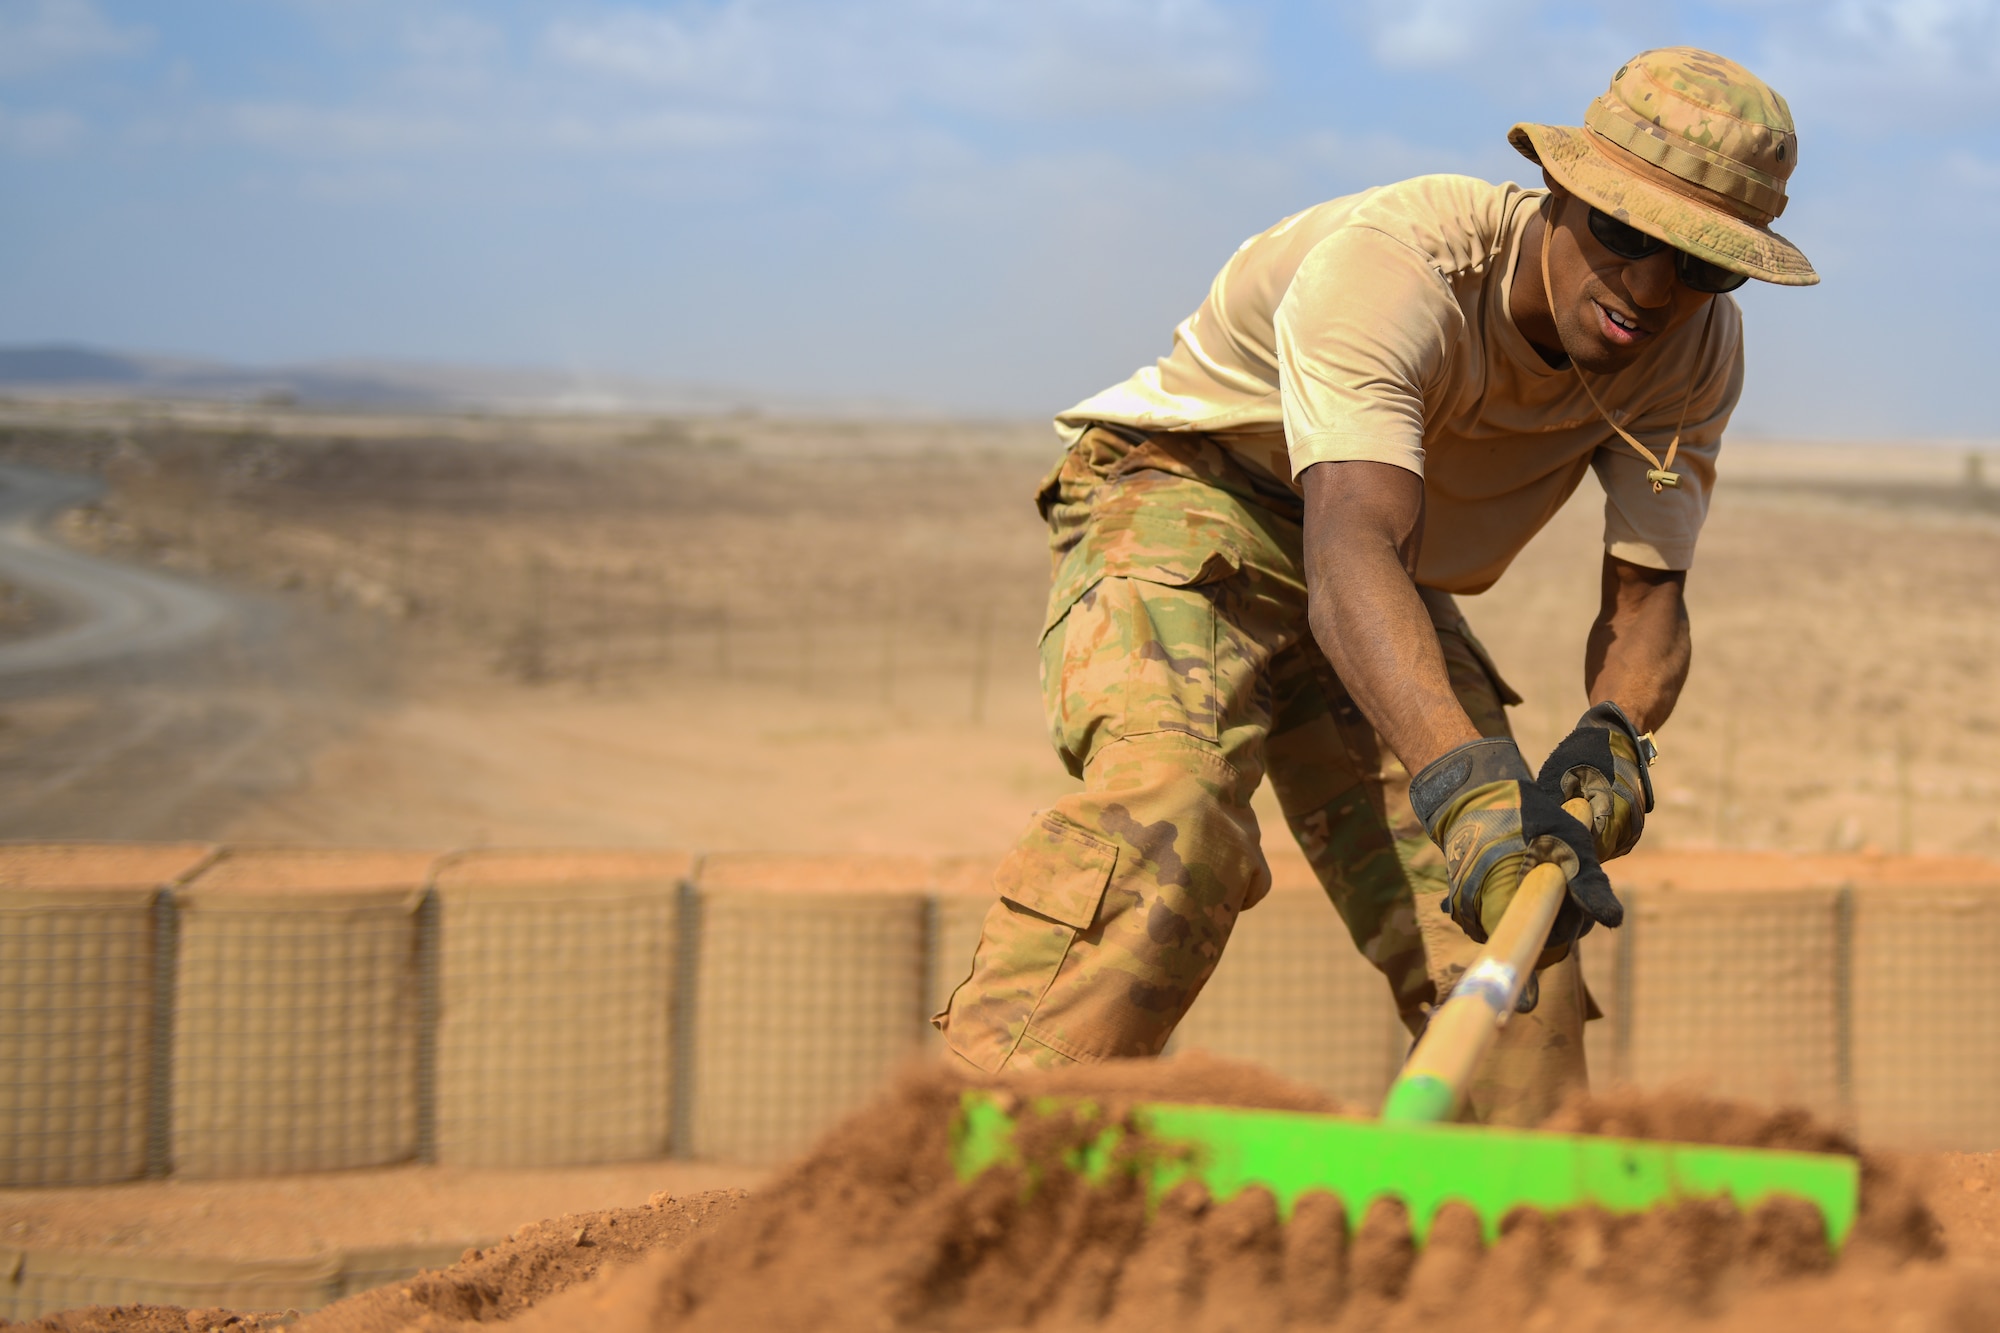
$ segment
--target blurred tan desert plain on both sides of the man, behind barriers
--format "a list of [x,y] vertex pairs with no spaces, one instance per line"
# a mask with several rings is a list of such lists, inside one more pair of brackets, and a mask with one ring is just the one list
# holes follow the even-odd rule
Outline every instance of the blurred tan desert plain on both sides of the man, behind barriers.
[[[1034,681],[1040,428],[106,412],[0,438],[108,478],[64,534],[324,644],[234,691],[322,719],[292,771],[150,835],[990,853],[1068,785]],[[1650,847],[2000,853],[2000,490],[1968,466],[1726,450]],[[1596,510],[1586,482],[1466,598],[1530,755],[1584,703]],[[0,769],[96,707],[8,701]],[[136,833],[102,799],[36,821]]]

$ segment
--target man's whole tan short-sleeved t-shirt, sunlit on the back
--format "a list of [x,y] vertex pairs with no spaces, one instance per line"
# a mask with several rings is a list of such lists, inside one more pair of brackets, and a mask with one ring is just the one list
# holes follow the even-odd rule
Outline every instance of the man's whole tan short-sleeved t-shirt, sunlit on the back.
[[1604,422],[1576,370],[1550,368],[1508,312],[1542,196],[1418,176],[1294,214],[1236,250],[1168,356],[1062,412],[1056,428],[1070,440],[1100,420],[1218,432],[1294,486],[1314,462],[1410,468],[1426,496],[1416,576],[1448,592],[1492,586],[1596,468],[1604,548],[1688,568],[1742,392],[1742,314],[1716,296],[1706,348],[1710,316],[1698,314],[1626,370],[1590,378],[1654,454],[1686,402],[1680,486],[1656,494],[1650,464]]

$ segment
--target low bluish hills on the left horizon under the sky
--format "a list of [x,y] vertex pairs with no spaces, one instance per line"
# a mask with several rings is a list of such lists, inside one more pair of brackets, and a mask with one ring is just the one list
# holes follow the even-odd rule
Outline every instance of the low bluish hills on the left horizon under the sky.
[[784,408],[750,392],[630,376],[418,362],[236,366],[74,344],[0,346],[14,396],[226,398],[346,408],[730,412]]

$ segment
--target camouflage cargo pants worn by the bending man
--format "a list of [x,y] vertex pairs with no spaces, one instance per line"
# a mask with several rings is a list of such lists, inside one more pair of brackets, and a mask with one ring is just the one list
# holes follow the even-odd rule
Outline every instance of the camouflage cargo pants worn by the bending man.
[[[1356,947],[1420,1031],[1476,945],[1438,911],[1444,865],[1408,775],[1306,628],[1298,496],[1212,438],[1094,428],[1040,504],[1056,564],[1044,701],[1084,789],[1002,861],[972,975],[936,1019],[948,1047],[988,1071],[1158,1055],[1236,915],[1270,889],[1250,811],[1266,769]],[[1518,699],[1450,598],[1426,600],[1460,703],[1506,735]],[[1472,1115],[1536,1123],[1584,1083],[1588,1009],[1574,955],[1546,971]]]

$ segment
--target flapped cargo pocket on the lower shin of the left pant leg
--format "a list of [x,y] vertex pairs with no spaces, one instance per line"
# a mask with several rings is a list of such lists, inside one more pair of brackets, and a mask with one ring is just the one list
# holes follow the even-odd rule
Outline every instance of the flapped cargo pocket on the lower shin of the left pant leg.
[[946,1043],[998,1073],[1104,905],[1118,847],[1046,811],[994,873],[1000,901],[986,913],[972,975],[952,993],[936,1025]]

